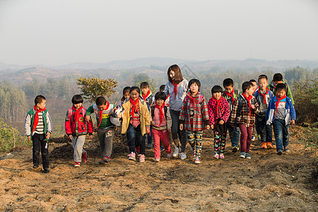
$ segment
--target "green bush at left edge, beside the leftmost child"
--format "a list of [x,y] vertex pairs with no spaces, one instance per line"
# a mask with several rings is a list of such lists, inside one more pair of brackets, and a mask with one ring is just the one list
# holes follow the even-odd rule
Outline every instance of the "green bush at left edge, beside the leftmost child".
[[[14,138],[16,139],[16,146],[14,146]],[[0,118],[0,152],[9,152],[20,148],[32,146],[28,143],[26,137],[21,136],[18,129],[9,126]]]

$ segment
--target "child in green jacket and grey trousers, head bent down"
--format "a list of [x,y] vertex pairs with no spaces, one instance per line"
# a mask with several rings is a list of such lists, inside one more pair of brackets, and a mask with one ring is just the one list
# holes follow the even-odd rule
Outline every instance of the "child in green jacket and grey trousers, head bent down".
[[96,123],[98,125],[98,140],[100,141],[101,159],[100,164],[110,162],[112,155],[112,139],[114,138],[114,124],[110,122],[110,114],[114,105],[110,104],[102,96],[95,100],[95,104],[86,110],[86,122],[90,120],[90,114],[95,113]]

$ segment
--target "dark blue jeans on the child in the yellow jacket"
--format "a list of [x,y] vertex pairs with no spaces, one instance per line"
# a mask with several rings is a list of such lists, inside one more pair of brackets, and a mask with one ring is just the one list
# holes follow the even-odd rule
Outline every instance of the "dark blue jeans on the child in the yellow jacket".
[[126,135],[127,143],[129,146],[129,153],[136,153],[136,146],[139,146],[141,155],[144,155],[146,142],[141,135],[140,124],[136,128],[132,126],[132,124],[129,124]]

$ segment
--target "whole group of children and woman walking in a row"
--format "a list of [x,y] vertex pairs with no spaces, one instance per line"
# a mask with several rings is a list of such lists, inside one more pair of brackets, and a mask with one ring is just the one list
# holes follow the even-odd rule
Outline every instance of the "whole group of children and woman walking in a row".
[[[81,95],[74,95],[73,106],[66,112],[65,119],[65,131],[73,143],[74,167],[88,160],[83,144],[86,135],[92,137],[93,134],[90,117],[93,113],[98,125],[100,164],[110,162],[115,126],[122,126],[122,134],[126,134],[129,160],[136,160],[139,156],[141,163],[146,158],[146,140],[148,147],[153,145],[155,162],[160,161],[160,142],[167,158],[179,156],[181,160],[187,158],[185,148],[189,142],[194,163],[201,163],[201,141],[205,129],[213,129],[213,158],[216,159],[224,158],[227,132],[232,152],[240,150],[240,158],[251,159],[249,147],[253,127],[261,140],[261,148],[273,148],[274,131],[278,155],[290,151],[289,124],[295,124],[295,109],[290,88],[281,73],[276,73],[271,83],[266,75],[259,76],[258,81],[246,81],[242,84],[242,93],[234,89],[232,79],[226,78],[224,91],[220,86],[213,86],[208,102],[200,93],[201,82],[198,79],[188,82],[182,77],[179,66],[170,66],[167,77],[167,83],[160,86],[154,97],[147,82],[141,83],[140,88],[125,87],[117,107],[104,97],[98,97],[86,110]],[[33,167],[39,166],[41,151],[43,172],[47,173],[52,122],[45,102],[42,95],[35,98],[35,106],[25,118],[25,133],[28,140],[33,141]],[[175,150],[173,153],[170,140]]]

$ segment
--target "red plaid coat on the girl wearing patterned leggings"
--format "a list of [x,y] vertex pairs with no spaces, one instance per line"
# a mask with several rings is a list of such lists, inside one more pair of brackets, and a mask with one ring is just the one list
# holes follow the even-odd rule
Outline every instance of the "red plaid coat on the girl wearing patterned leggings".
[[208,105],[206,104],[206,98],[200,93],[196,94],[194,104],[194,117],[193,126],[191,126],[190,118],[190,105],[192,105],[192,99],[189,98],[190,93],[184,98],[181,111],[179,114],[179,123],[184,124],[184,129],[189,131],[202,131],[206,129],[206,125],[209,124],[208,118]]

